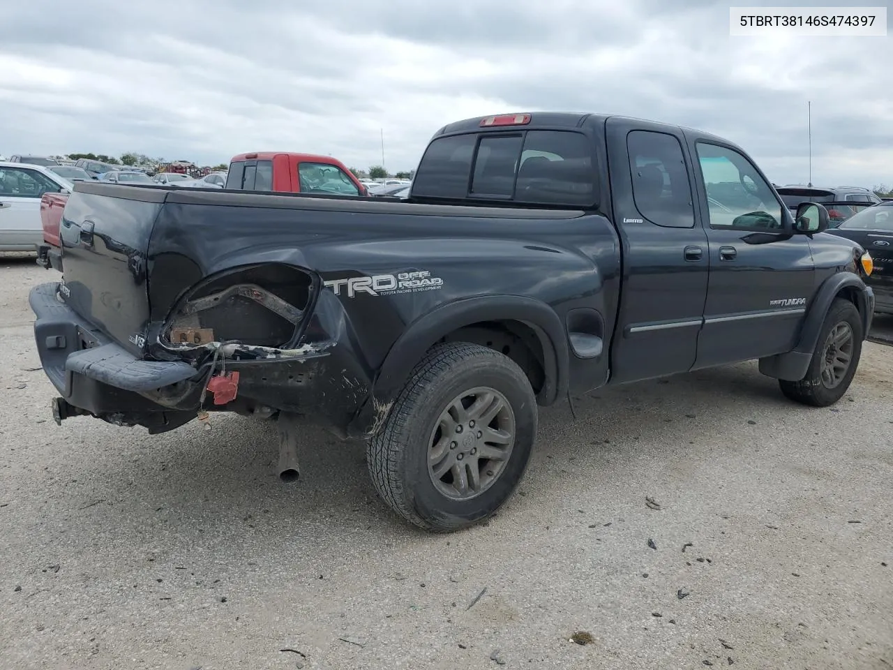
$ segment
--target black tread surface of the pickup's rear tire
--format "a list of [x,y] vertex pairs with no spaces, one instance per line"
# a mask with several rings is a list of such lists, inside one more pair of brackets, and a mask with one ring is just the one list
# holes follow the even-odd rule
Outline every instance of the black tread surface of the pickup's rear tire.
[[[407,521],[432,532],[447,532],[449,529],[432,525],[405,504],[398,464],[398,459],[402,456],[399,436],[407,430],[406,424],[411,420],[416,407],[424,402],[425,389],[436,379],[438,373],[444,373],[452,365],[472,356],[489,356],[494,361],[503,364],[507,362],[517,367],[511,358],[498,351],[470,342],[450,342],[431,348],[410,373],[409,381],[397,395],[384,427],[366,443],[369,472],[381,498]],[[521,372],[520,367],[518,371]]]

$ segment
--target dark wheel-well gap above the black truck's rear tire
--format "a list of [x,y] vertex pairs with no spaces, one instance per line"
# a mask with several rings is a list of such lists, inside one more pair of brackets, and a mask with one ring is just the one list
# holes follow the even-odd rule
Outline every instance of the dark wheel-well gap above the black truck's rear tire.
[[527,375],[535,394],[546,383],[545,354],[532,328],[520,321],[484,321],[457,328],[438,342],[471,342],[511,358]]

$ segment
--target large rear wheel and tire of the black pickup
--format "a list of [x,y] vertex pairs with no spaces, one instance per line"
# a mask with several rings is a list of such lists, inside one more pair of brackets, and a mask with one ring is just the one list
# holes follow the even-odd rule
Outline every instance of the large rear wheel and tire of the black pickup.
[[[485,421],[502,432],[485,432]],[[398,515],[426,531],[467,528],[493,515],[522,481],[537,422],[530,381],[513,360],[466,342],[438,345],[415,366],[368,443],[372,482]]]

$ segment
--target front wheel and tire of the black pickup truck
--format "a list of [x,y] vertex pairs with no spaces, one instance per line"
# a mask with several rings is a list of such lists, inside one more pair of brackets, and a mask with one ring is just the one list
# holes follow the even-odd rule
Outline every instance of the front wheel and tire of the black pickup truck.
[[[847,332],[849,339],[842,341],[841,338],[845,337]],[[859,358],[862,356],[863,339],[864,331],[859,311],[848,300],[836,298],[822,323],[813,360],[805,377],[800,381],[780,380],[781,392],[803,405],[814,407],[833,405],[843,398],[853,381]],[[829,373],[826,366],[828,356],[839,362],[842,360],[840,354],[849,356],[846,368],[838,368]]]

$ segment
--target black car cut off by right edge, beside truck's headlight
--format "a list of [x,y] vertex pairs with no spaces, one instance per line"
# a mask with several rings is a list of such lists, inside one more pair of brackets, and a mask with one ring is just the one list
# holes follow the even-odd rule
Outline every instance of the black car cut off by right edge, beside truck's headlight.
[[874,311],[893,314],[893,201],[863,209],[829,232],[869,250],[874,272],[865,282],[874,289]]

